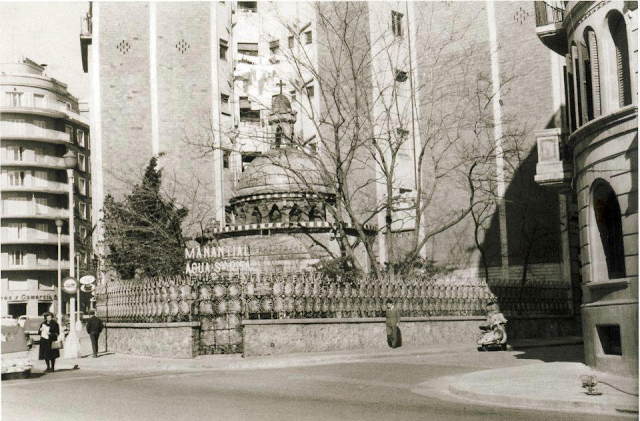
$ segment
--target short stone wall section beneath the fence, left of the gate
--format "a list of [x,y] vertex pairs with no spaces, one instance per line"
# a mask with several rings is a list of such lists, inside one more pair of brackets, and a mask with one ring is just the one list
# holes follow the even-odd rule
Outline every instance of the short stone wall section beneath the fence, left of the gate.
[[[106,323],[100,341],[106,351],[160,358],[193,358],[198,355],[200,322]],[[99,346],[100,351],[104,348]]]

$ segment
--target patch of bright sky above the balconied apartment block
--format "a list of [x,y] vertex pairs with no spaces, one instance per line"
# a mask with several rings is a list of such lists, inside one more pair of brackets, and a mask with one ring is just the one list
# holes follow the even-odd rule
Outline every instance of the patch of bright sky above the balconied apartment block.
[[47,75],[68,85],[78,99],[89,100],[90,78],[82,71],[80,19],[88,1],[0,1],[0,62],[25,56],[47,64]]

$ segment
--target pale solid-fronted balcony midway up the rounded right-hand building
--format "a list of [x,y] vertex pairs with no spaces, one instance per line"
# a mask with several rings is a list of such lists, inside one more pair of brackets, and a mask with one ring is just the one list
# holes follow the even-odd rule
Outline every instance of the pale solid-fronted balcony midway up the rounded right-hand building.
[[538,142],[538,164],[535,181],[541,186],[564,190],[571,188],[573,163],[571,157],[561,153],[566,135],[561,129],[546,129],[536,132]]

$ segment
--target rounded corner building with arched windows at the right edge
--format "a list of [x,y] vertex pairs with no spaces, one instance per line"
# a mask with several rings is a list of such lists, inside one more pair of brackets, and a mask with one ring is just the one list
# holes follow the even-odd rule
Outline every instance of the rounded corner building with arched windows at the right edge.
[[[637,2],[536,2],[559,110],[536,181],[577,204],[586,362],[638,373]],[[557,112],[559,111],[559,112]]]

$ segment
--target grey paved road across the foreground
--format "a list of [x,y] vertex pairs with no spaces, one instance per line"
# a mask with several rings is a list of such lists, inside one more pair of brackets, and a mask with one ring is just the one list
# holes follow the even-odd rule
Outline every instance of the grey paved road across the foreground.
[[[558,349],[562,354],[562,349]],[[2,419],[21,420],[603,420],[492,408],[411,392],[417,384],[531,361],[506,353],[425,355],[286,369],[191,373],[63,370],[2,382]],[[484,360],[483,360],[484,359]],[[486,361],[486,367],[482,367]]]

